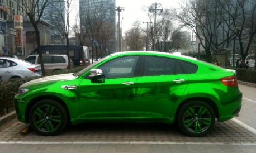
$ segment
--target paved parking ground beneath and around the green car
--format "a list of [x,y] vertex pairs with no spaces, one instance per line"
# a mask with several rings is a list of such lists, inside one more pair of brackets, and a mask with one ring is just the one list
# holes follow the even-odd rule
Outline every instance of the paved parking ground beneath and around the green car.
[[13,119],[0,127],[0,152],[256,152],[256,88],[239,89],[240,116],[216,122],[206,137],[187,137],[159,123],[86,123],[54,137],[20,135],[27,125]]

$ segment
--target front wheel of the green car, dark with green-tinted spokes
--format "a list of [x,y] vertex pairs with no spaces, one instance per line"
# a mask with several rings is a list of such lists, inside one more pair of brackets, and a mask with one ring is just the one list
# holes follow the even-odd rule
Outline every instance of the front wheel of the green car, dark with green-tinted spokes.
[[58,102],[45,99],[32,106],[29,122],[32,129],[40,135],[55,136],[67,125],[67,113]]

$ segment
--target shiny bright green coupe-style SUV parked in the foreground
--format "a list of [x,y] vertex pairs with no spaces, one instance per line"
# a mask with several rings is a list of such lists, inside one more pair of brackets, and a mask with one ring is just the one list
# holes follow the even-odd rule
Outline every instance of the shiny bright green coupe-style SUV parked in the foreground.
[[67,123],[177,121],[204,136],[235,117],[242,93],[236,72],[195,58],[153,51],[118,52],[74,74],[27,82],[15,95],[18,120],[40,135]]

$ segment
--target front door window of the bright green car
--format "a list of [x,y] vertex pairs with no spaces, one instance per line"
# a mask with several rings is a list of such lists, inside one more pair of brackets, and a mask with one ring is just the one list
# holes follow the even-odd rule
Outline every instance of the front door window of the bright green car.
[[109,78],[129,78],[134,76],[138,56],[125,56],[113,59],[98,67]]

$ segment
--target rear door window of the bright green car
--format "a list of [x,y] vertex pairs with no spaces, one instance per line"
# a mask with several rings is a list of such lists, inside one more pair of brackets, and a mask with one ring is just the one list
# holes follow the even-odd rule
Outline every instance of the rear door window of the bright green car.
[[181,66],[176,59],[157,56],[145,56],[141,67],[142,76],[183,74]]

